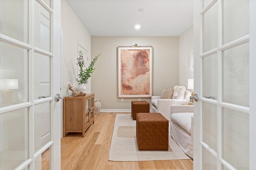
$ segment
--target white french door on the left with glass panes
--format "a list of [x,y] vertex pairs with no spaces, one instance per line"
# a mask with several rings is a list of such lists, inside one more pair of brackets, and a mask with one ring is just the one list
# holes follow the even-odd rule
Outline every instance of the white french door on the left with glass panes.
[[60,169],[60,1],[0,11],[0,170]]

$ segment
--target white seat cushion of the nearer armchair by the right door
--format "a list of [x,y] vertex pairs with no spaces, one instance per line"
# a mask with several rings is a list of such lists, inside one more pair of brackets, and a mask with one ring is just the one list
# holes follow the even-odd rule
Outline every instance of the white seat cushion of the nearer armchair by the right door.
[[171,121],[178,124],[185,131],[191,134],[191,117],[194,113],[173,113],[171,114]]

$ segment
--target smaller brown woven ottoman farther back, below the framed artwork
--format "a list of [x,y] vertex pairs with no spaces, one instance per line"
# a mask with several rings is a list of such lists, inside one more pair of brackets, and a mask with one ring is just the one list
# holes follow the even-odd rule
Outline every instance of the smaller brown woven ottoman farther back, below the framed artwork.
[[132,119],[136,120],[136,113],[149,113],[147,101],[132,101]]

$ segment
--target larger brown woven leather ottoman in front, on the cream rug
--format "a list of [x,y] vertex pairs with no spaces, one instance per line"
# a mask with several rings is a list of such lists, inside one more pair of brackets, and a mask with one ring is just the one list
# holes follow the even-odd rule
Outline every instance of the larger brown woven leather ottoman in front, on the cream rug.
[[169,121],[161,113],[137,113],[139,150],[168,150]]

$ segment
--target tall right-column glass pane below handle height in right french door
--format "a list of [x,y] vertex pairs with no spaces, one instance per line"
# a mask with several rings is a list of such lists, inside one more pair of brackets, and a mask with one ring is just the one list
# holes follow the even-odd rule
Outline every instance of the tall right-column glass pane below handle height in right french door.
[[223,108],[222,154],[237,170],[249,168],[249,115]]

